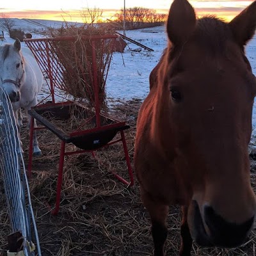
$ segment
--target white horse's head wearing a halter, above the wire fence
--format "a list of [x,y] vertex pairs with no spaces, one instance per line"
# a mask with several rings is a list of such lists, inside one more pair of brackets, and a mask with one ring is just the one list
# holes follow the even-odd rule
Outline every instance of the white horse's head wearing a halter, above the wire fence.
[[20,87],[24,79],[24,59],[20,41],[0,47],[0,84],[12,102],[20,100]]

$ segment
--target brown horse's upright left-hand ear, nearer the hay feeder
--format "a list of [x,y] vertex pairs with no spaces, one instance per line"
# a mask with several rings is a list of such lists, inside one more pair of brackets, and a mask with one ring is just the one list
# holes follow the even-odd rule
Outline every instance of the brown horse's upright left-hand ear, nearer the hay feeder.
[[174,0],[167,20],[168,37],[174,45],[184,44],[196,24],[195,10],[187,0]]

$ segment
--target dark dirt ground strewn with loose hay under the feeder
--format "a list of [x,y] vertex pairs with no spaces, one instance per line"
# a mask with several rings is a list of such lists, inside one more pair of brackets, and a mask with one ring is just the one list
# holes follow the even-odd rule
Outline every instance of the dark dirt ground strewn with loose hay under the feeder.
[[[127,120],[125,131],[129,155],[133,156],[136,117],[141,100],[119,102],[112,116]],[[25,161],[28,163],[28,129],[22,129]],[[128,177],[122,144],[118,143],[91,154],[65,157],[61,207],[51,214],[56,197],[60,140],[49,131],[38,132],[42,157],[33,158],[29,180],[36,225],[44,256],[139,256],[152,255],[150,220],[141,204],[138,182],[127,188],[115,179],[111,170]],[[120,144],[120,145],[119,145]],[[68,145],[69,149],[74,148]],[[252,160],[252,182],[255,164]],[[254,183],[253,183],[253,187]],[[0,255],[6,255],[10,222],[4,201],[3,180],[0,190]],[[166,255],[178,255],[180,243],[179,207],[171,207],[168,216]],[[192,255],[255,255],[256,232],[240,248],[222,250],[200,248],[193,244]]]

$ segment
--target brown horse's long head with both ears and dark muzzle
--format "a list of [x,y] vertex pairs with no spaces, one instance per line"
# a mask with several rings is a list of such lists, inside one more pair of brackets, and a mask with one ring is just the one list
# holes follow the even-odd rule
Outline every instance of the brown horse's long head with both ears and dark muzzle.
[[171,147],[168,157],[186,188],[189,230],[206,246],[243,243],[255,220],[248,143],[256,79],[244,55],[255,27],[256,1],[226,23],[196,19],[188,1],[175,0],[168,49],[154,71],[156,109],[165,118],[156,124],[165,126],[156,129],[164,136],[156,138],[163,152]]

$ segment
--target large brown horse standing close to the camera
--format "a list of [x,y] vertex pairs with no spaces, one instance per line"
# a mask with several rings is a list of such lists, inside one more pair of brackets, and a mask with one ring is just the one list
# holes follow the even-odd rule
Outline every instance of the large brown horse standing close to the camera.
[[256,1],[229,23],[196,19],[186,0],[170,8],[168,47],[150,74],[134,154],[156,256],[164,255],[168,205],[182,205],[182,256],[193,240],[239,246],[252,229],[248,143],[256,79],[244,45],[255,28]]

